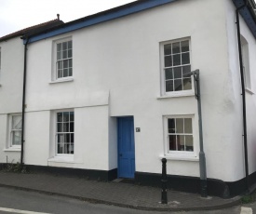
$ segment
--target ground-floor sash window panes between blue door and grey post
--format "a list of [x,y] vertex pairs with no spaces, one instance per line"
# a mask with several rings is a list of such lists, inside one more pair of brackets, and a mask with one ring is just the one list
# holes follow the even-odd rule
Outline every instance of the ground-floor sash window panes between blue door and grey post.
[[194,152],[192,118],[167,119],[168,153]]

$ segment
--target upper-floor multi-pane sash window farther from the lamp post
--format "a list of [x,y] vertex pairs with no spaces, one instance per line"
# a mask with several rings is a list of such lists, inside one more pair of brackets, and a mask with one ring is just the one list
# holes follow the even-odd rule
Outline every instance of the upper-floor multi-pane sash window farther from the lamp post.
[[72,76],[72,40],[57,43],[57,79]]

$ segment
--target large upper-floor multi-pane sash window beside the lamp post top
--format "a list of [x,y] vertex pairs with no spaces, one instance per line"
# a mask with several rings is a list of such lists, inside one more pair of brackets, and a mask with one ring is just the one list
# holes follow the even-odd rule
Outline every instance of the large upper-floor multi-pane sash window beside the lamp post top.
[[176,40],[162,44],[163,92],[191,90],[191,77],[182,77],[191,72],[190,41]]

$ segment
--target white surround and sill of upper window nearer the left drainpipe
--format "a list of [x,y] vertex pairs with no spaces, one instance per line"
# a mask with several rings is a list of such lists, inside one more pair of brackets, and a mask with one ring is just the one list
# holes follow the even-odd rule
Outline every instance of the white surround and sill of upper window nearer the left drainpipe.
[[[58,77],[58,60],[57,60],[57,46],[58,44],[65,43],[65,42],[72,42],[72,57],[67,58],[65,60],[72,60],[72,75],[68,75],[65,77]],[[74,43],[72,36],[68,36],[65,38],[61,38],[58,40],[54,40],[52,43],[52,72],[51,72],[51,81],[50,83],[56,83],[56,82],[68,82],[73,81],[74,78]],[[63,60],[63,59],[61,59]]]

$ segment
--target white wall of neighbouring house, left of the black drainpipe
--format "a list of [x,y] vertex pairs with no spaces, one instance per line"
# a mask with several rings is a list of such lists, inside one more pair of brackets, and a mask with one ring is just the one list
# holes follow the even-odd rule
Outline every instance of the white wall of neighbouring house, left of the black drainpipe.
[[20,149],[10,146],[10,115],[21,113],[24,47],[20,37],[0,43],[0,163],[20,162]]

